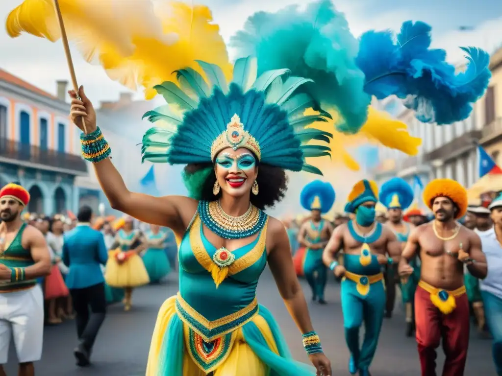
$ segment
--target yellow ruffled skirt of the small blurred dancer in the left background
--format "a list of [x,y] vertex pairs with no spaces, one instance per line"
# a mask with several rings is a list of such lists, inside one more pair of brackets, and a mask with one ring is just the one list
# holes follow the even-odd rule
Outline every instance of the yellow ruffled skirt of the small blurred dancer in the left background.
[[116,251],[108,253],[104,279],[110,287],[138,287],[150,282],[143,260],[133,255],[122,264],[115,259]]

